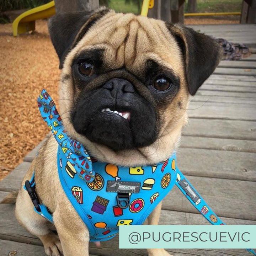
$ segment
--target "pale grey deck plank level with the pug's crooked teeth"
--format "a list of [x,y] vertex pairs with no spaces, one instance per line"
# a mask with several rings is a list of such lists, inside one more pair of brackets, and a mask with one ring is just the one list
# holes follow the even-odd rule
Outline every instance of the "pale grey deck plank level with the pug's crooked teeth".
[[190,102],[188,116],[191,118],[214,118],[256,121],[254,106],[218,102]]

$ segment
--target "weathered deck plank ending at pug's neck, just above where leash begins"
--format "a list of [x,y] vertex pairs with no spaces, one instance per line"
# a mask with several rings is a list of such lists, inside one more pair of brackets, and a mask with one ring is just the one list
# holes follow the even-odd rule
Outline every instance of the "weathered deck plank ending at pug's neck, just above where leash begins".
[[177,162],[185,175],[256,181],[256,153],[180,148]]

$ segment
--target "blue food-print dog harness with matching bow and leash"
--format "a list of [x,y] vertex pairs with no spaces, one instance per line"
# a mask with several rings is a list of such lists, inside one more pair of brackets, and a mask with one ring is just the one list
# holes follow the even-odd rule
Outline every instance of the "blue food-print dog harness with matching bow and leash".
[[[90,233],[90,241],[116,236],[120,225],[140,225],[176,185],[191,204],[213,225],[225,225],[183,176],[176,154],[151,166],[123,167],[91,158],[84,146],[66,133],[55,103],[43,90],[38,107],[57,140],[60,183],[69,201]],[[40,204],[34,174],[24,188],[34,210],[53,223],[52,215]],[[246,249],[256,255],[254,250]]]

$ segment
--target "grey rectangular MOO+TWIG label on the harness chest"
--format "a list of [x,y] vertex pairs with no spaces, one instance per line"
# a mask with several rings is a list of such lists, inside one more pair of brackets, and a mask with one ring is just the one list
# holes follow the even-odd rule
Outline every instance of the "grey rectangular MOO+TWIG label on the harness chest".
[[129,181],[108,181],[107,192],[117,193],[139,193],[140,182],[129,182]]

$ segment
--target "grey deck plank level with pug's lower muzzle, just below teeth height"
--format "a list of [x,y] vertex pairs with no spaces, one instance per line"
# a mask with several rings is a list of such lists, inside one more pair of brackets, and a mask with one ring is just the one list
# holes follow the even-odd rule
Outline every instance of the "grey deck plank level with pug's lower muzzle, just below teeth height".
[[256,122],[191,118],[182,134],[197,137],[255,140]]

